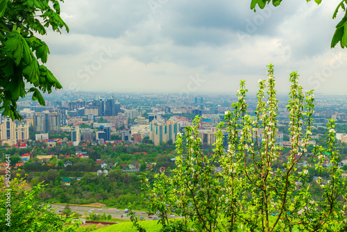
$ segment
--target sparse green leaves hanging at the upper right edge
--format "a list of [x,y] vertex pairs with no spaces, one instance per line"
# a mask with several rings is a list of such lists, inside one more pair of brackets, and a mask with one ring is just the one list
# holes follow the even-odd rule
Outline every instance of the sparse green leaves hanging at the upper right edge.
[[[311,0],[306,0],[311,1]],[[322,0],[314,0],[317,4],[320,4]],[[251,9],[255,10],[256,6],[259,6],[261,9],[264,9],[266,4],[270,3],[271,0],[252,0],[251,1]],[[282,0],[272,0],[273,6],[280,6],[280,3]],[[336,44],[340,43],[341,48],[347,47],[347,1],[342,0],[339,5],[337,5],[337,8],[335,9],[334,13],[332,14],[332,19],[335,19],[337,16],[337,13],[339,10],[343,10],[345,15],[339,22],[339,24],[336,25],[336,30],[334,35],[332,36],[332,41],[330,47],[333,48],[336,46]]]

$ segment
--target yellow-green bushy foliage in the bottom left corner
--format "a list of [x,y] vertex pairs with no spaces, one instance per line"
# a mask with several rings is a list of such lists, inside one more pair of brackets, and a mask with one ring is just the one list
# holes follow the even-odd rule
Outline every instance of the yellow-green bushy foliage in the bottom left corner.
[[[3,183],[3,178],[0,181]],[[6,185],[0,192],[0,231],[73,232],[78,227],[71,224],[72,217],[57,215],[40,202],[37,196],[44,189],[41,183],[28,189],[24,179],[15,178]]]

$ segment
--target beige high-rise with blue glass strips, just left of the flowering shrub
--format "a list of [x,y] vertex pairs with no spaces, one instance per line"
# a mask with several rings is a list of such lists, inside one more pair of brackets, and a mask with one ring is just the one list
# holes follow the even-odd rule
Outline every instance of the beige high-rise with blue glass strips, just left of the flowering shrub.
[[153,120],[150,127],[151,132],[149,133],[149,138],[157,146],[162,141],[167,142],[172,140],[172,142],[175,142],[177,133],[180,131],[180,124],[173,121],[160,123],[157,120]]

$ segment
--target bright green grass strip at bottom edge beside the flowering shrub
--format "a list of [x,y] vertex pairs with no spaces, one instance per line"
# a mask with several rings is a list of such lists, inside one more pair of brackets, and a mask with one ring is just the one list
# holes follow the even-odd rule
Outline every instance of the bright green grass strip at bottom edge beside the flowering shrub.
[[[159,221],[144,221],[139,222],[146,231],[159,232],[162,228],[161,224],[158,224]],[[105,226],[101,229],[98,229],[94,232],[135,232],[136,229],[133,227],[133,222],[122,222],[119,224],[114,224],[111,226]]]

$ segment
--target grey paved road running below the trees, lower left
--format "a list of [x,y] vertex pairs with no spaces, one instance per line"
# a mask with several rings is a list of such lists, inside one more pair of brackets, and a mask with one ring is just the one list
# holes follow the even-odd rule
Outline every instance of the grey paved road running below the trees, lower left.
[[[56,204],[51,204],[52,208],[56,208],[55,213],[61,213],[59,212],[62,211],[62,207],[65,207],[65,205],[56,205]],[[106,213],[106,216],[108,215],[112,215],[112,217],[115,218],[121,218],[121,215],[124,214],[128,214],[128,213],[124,213],[124,210],[120,210],[117,208],[102,208],[102,211],[99,211],[100,208],[97,207],[91,207],[91,206],[70,206],[71,211],[76,212],[76,213],[81,213],[81,215],[85,215],[85,212],[90,211],[91,209],[94,209],[94,213],[98,213],[99,215],[103,215],[103,213]],[[119,210],[119,213],[116,212],[116,210]],[[90,214],[90,213],[88,213]],[[149,215],[147,215],[144,211],[135,211],[135,215],[138,215],[139,217],[144,217],[146,220],[151,220],[151,218],[149,218]],[[123,218],[128,218],[130,219],[130,217],[123,217]]]

